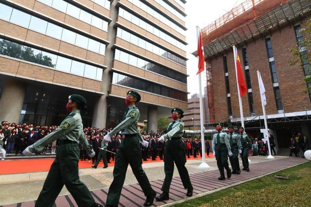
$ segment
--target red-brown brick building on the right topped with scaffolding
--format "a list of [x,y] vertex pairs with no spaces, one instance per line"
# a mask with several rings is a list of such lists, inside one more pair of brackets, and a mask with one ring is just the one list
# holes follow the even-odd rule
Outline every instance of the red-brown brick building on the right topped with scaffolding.
[[[266,90],[268,127],[277,148],[288,147],[294,132],[311,139],[311,102],[305,93],[309,64],[290,66],[299,30],[310,19],[310,0],[246,0],[202,30],[207,62],[211,123],[241,125],[232,46],[238,48],[248,93],[242,97],[246,131],[263,137],[257,70]],[[300,47],[300,52],[307,52]]]

